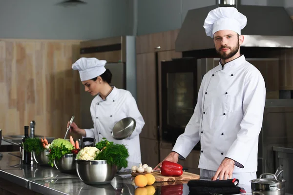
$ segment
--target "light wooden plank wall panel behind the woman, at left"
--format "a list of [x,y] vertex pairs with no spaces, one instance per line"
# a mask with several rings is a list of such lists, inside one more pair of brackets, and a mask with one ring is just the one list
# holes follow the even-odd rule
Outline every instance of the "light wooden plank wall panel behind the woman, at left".
[[71,65],[79,40],[0,40],[0,129],[22,135],[36,121],[36,135],[63,137],[67,121],[80,120],[80,78]]

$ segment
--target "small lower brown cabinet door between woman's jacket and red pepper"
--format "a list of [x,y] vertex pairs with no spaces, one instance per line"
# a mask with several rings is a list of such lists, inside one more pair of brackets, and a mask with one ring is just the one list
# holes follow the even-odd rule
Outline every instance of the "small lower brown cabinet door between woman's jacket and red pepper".
[[142,163],[154,168],[159,164],[159,141],[140,138]]

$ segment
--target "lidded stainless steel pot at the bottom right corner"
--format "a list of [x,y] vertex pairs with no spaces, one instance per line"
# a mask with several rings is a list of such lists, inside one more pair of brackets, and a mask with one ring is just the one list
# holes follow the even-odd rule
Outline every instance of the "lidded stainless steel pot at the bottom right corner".
[[[263,176],[273,176],[273,178],[262,178]],[[277,179],[274,174],[262,174],[259,179],[251,182],[252,194],[259,195],[285,195],[285,179]]]

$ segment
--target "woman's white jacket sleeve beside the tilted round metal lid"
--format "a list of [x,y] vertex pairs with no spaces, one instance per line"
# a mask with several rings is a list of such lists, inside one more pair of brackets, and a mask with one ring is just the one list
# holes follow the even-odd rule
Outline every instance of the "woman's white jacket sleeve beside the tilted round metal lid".
[[133,96],[130,92],[127,91],[126,93],[126,115],[127,117],[132,117],[135,119],[136,126],[132,134],[127,137],[127,139],[133,139],[134,137],[138,136],[145,125],[145,121],[143,116],[138,110],[137,104]]

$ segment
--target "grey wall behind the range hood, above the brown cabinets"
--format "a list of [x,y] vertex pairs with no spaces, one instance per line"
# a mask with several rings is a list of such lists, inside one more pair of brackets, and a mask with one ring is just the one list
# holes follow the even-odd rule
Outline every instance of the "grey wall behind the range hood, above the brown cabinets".
[[[241,2],[244,5],[285,6],[286,4],[289,7],[289,1],[293,6],[293,0],[242,0]],[[189,9],[214,4],[216,0],[140,0],[138,1],[137,34],[145,35],[179,29]],[[290,11],[290,8],[288,9]]]

